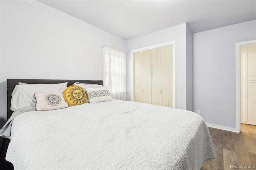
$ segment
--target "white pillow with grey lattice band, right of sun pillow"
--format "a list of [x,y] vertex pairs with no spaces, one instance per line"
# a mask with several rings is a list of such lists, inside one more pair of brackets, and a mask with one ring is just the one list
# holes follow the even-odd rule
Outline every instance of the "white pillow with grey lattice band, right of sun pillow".
[[108,87],[86,89],[90,103],[98,103],[102,101],[112,100],[111,94],[108,91]]

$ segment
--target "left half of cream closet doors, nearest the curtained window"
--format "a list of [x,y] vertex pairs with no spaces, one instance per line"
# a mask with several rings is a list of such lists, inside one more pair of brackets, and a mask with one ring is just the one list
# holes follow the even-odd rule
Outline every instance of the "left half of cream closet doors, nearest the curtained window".
[[151,53],[134,53],[134,101],[151,104]]

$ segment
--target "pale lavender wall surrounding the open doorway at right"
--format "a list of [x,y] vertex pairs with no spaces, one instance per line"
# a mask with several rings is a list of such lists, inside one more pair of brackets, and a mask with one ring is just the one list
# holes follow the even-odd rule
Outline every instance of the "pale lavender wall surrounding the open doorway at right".
[[256,39],[256,20],[194,34],[194,111],[230,130],[236,118],[235,43]]

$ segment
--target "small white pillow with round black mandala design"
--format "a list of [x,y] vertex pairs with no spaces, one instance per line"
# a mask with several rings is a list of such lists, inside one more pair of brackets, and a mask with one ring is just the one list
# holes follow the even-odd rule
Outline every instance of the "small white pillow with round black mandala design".
[[35,93],[36,110],[48,111],[68,107],[62,93]]

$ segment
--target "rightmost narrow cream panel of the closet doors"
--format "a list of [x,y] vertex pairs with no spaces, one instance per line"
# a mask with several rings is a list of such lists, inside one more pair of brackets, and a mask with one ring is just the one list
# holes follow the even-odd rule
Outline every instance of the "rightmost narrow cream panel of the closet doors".
[[162,106],[172,107],[172,46],[161,48]]

